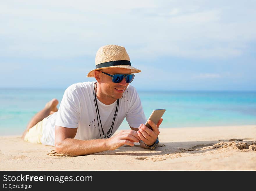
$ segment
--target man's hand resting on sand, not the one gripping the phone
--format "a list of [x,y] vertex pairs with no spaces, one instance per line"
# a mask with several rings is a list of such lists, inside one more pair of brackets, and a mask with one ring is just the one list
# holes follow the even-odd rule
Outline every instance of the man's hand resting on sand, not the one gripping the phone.
[[138,133],[134,130],[122,130],[115,136],[107,140],[108,150],[115,150],[124,144],[134,146],[134,142],[139,142]]

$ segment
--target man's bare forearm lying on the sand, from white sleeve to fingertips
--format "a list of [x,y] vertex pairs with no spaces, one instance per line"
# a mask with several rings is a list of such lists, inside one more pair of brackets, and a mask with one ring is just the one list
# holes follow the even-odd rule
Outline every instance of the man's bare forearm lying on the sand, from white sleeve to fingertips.
[[134,146],[133,142],[139,142],[136,131],[121,131],[109,139],[78,140],[74,139],[77,128],[55,126],[55,150],[59,154],[80,156],[98,153],[106,150],[115,150],[127,144]]

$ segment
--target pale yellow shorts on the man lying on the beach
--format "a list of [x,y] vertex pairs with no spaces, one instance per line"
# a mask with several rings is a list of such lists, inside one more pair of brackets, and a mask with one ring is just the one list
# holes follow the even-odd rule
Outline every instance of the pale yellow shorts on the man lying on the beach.
[[43,132],[43,126],[47,120],[45,117],[42,121],[38,122],[36,125],[31,127],[28,132],[26,133],[24,140],[31,143],[40,143],[41,144],[41,137]]

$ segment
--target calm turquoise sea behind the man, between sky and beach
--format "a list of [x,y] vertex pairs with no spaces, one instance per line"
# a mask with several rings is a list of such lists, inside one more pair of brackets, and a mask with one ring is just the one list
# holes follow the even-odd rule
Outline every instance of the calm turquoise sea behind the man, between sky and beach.
[[[63,90],[0,89],[0,135],[22,134],[27,123]],[[256,92],[139,91],[146,117],[165,108],[161,128],[255,125]],[[59,106],[59,105],[58,105]],[[120,129],[128,129],[124,119]]]

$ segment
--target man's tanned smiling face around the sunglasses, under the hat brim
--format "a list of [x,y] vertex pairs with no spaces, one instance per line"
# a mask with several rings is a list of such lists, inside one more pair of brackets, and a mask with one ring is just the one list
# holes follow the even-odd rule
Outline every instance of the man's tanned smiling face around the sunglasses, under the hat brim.
[[[124,68],[108,68],[102,69],[101,71],[106,72],[108,74],[131,74],[130,69]],[[125,78],[120,83],[113,83],[112,77],[100,72],[101,75],[101,91],[107,97],[111,97],[113,99],[120,99],[125,92],[129,83],[126,83]]]

